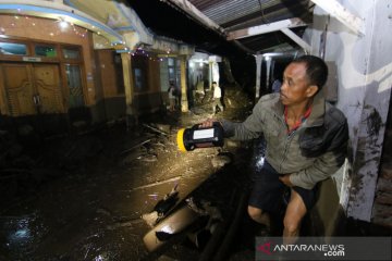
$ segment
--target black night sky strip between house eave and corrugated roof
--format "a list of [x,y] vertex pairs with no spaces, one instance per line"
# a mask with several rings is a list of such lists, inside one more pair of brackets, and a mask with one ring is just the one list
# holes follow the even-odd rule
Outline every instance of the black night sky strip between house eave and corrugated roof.
[[168,3],[159,0],[128,0],[128,3],[154,34],[194,45],[197,51],[228,58],[237,83],[245,88],[254,87],[256,61],[253,55]]

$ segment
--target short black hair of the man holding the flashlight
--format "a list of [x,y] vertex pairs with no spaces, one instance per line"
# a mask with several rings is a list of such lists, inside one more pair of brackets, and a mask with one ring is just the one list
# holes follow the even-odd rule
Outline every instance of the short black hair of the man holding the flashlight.
[[328,66],[321,58],[315,55],[302,55],[294,59],[293,63],[305,63],[309,84],[316,85],[318,90],[321,90],[328,78]]

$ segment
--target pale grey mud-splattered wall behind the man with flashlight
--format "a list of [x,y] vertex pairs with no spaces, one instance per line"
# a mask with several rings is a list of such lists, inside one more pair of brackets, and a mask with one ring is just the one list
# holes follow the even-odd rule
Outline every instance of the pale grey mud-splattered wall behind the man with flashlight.
[[347,164],[333,178],[340,201],[335,211],[343,208],[347,216],[370,221],[392,85],[392,3],[339,2],[364,21],[365,36],[354,34],[318,7],[306,35],[313,54],[318,55],[327,27],[324,60],[336,65],[336,107],[350,125]]

